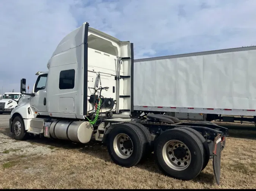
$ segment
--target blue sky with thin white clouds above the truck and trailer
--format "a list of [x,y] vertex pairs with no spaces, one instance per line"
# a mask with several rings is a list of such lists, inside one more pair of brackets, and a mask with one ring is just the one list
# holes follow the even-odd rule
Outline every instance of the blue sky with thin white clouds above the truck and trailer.
[[255,0],[0,0],[0,89],[30,89],[60,40],[90,27],[134,43],[135,59],[256,45]]

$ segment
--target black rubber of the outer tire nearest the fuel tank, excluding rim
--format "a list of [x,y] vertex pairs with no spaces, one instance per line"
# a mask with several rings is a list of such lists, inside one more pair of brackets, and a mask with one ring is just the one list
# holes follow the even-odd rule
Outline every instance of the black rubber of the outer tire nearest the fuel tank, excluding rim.
[[[119,157],[114,149],[114,139],[120,133],[124,133],[129,136],[133,143],[132,154],[126,159]],[[109,133],[107,140],[108,153],[111,159],[117,165],[124,167],[135,166],[138,164],[138,162],[140,162],[143,155],[143,149],[145,149],[145,144],[146,141],[140,129],[138,129],[135,125],[127,123],[117,125],[115,128],[113,128],[112,131]]]

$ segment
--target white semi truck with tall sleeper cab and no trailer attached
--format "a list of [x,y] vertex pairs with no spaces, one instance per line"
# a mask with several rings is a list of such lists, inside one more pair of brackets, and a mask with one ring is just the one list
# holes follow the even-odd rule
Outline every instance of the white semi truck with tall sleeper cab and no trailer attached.
[[[228,129],[211,122],[183,123],[163,114],[132,119],[137,99],[133,89],[141,83],[135,81],[133,62],[133,43],[83,23],[61,40],[47,63],[49,71],[36,73],[32,93],[26,93],[26,79],[21,80],[24,97],[9,119],[14,139],[41,134],[80,143],[100,141],[106,143],[111,159],[124,167],[136,165],[154,151],[162,172],[182,180],[195,178],[211,158],[219,183]],[[158,82],[155,79],[155,85]],[[167,99],[166,91],[156,93],[136,96]]]

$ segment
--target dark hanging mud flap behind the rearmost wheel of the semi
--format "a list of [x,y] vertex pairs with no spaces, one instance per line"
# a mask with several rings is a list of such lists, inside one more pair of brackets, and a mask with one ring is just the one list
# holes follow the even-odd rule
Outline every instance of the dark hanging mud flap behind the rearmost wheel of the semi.
[[214,156],[212,160],[212,165],[214,169],[214,176],[217,184],[220,184],[220,154],[221,154],[221,136],[218,134],[214,139]]

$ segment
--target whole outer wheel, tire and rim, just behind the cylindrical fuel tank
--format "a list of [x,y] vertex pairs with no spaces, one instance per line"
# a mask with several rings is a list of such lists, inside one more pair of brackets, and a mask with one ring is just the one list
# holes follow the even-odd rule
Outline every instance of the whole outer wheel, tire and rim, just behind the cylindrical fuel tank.
[[121,124],[113,128],[108,135],[108,153],[116,164],[125,167],[137,165],[143,155],[145,138],[132,124]]

